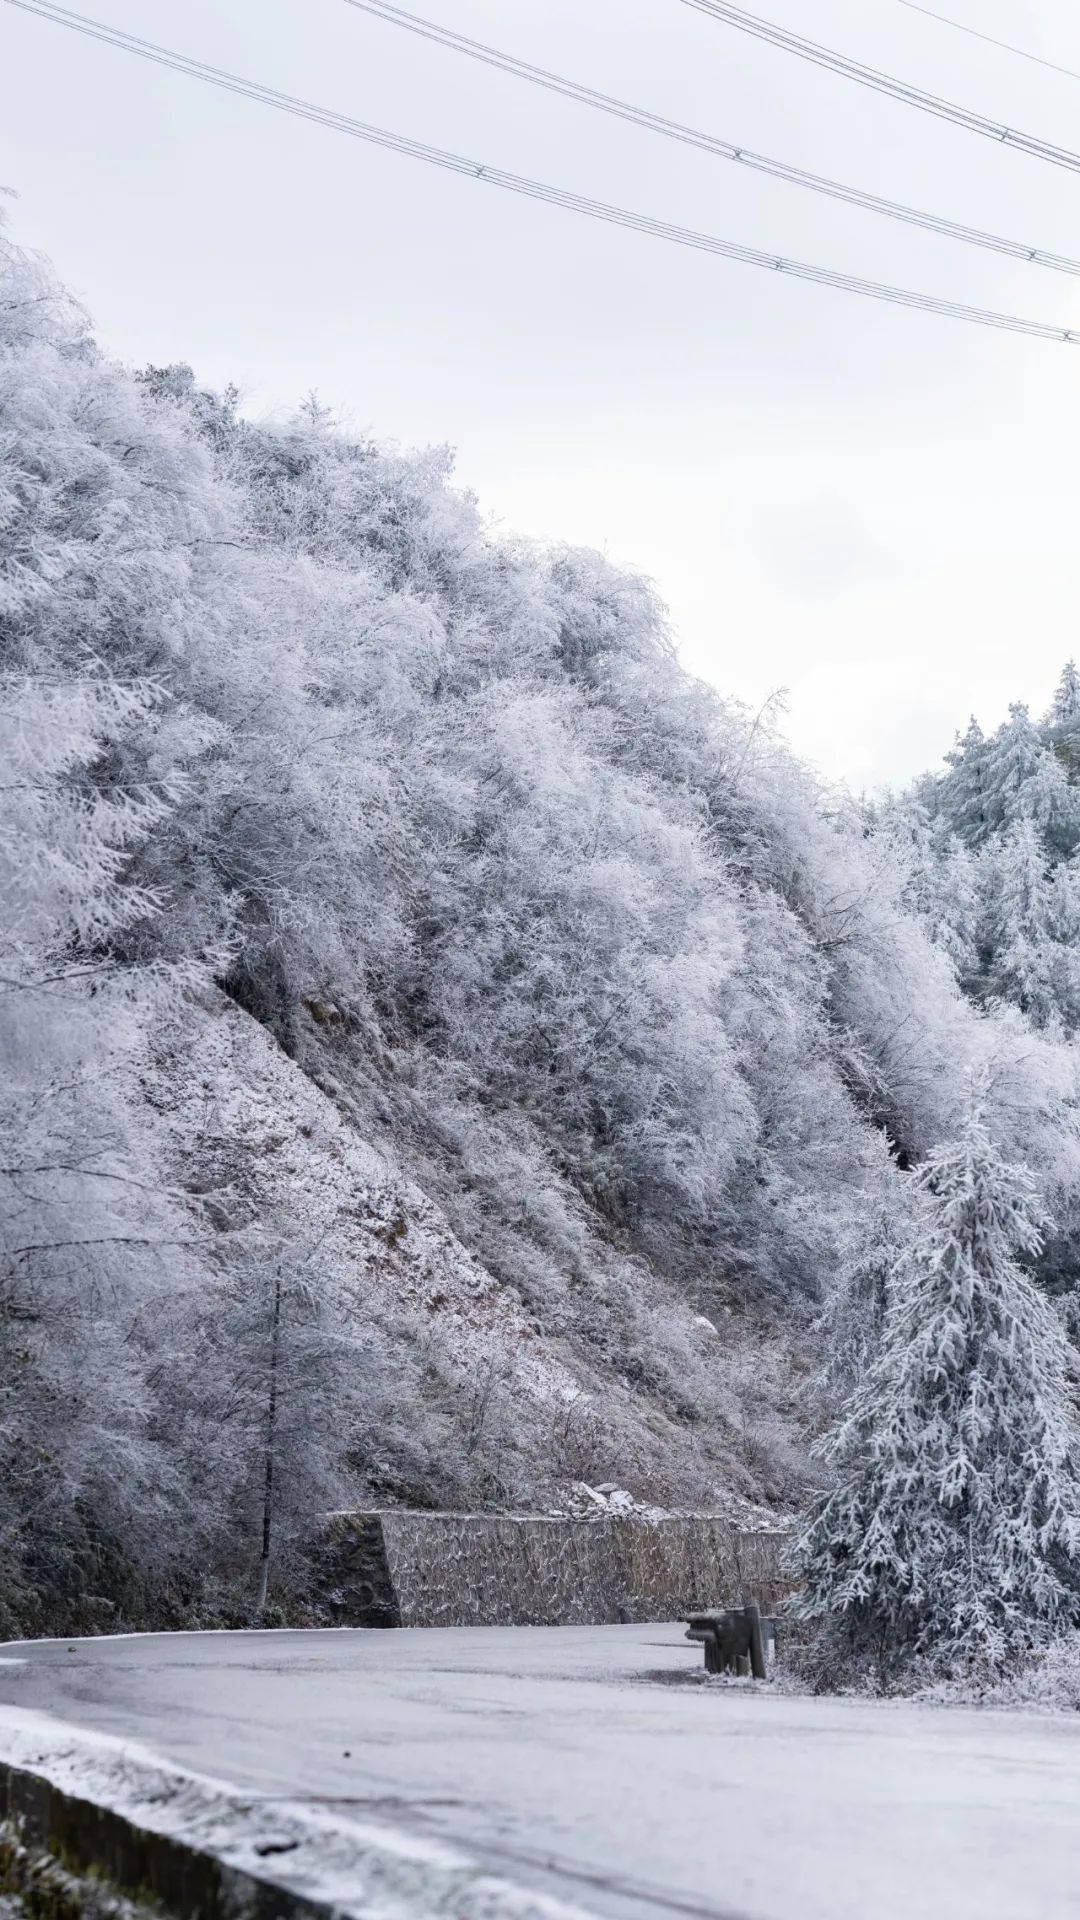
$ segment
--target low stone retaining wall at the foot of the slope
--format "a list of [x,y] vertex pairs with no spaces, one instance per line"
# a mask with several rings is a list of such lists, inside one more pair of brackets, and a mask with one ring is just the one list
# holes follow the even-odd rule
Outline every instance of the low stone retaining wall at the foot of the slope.
[[323,1599],[342,1626],[584,1626],[773,1609],[784,1590],[782,1536],[719,1515],[386,1509],[332,1515]]

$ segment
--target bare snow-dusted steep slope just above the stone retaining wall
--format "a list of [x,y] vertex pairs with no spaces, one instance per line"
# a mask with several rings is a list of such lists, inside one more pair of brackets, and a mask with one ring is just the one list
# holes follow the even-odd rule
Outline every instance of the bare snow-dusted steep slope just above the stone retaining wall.
[[751,1519],[755,1498],[798,1488],[782,1342],[732,1308],[719,1327],[694,1313],[584,1219],[580,1275],[567,1286],[552,1265],[538,1309],[457,1238],[394,1129],[371,1116],[365,1137],[356,1096],[342,1112],[225,995],[156,1023],[133,1100],[198,1242],[279,1223],[346,1296],[369,1400],[357,1498],[544,1505],[586,1478]]

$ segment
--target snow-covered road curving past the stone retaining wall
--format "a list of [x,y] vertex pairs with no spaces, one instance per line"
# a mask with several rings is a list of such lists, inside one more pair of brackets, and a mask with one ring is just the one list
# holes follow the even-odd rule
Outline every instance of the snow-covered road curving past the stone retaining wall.
[[700,1665],[676,1624],[156,1634],[2,1647],[0,1701],[601,1914],[1080,1916],[1080,1716]]

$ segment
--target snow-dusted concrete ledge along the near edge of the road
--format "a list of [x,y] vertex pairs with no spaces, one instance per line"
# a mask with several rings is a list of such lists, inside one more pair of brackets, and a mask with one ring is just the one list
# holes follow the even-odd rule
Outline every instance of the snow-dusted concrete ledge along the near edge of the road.
[[457,1849],[0,1709],[0,1891],[31,1920],[588,1920]]

